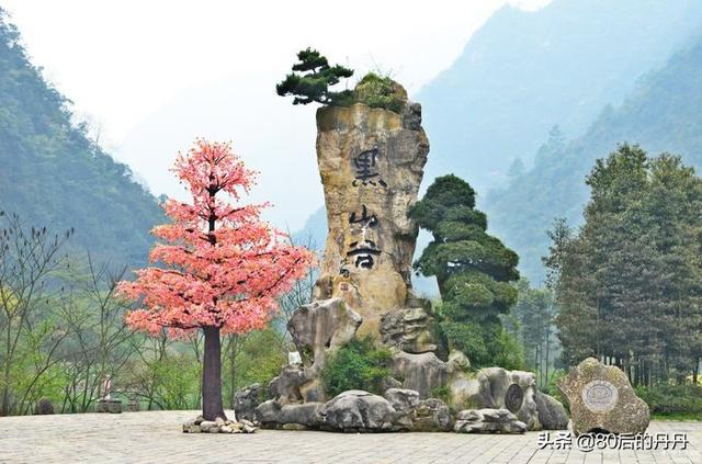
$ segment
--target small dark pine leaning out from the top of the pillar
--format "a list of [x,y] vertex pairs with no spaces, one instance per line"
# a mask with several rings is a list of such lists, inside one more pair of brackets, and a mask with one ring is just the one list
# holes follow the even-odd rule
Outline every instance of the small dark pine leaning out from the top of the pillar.
[[352,98],[351,90],[332,92],[329,87],[353,76],[353,70],[340,65],[329,66],[327,58],[312,48],[301,50],[297,59],[299,63],[293,65],[293,71],[304,73],[287,75],[285,80],[275,86],[279,95],[294,95],[293,104],[317,102],[327,105],[343,104]]

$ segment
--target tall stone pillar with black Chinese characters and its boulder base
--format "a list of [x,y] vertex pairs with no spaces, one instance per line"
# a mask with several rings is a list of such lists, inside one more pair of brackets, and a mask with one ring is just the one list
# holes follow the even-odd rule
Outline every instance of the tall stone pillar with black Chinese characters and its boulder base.
[[[364,103],[317,111],[329,235],[313,303],[287,325],[302,365],[284,367],[271,382],[272,399],[259,405],[256,420],[350,432],[541,429],[535,376],[499,367],[469,372],[463,353],[446,352],[431,304],[412,293],[418,228],[408,212],[417,202],[429,142],[421,106],[397,83],[392,97],[395,111]],[[394,352],[384,396],[348,391],[330,398],[320,382],[326,360],[359,335]],[[442,392],[451,405],[435,397]],[[565,416],[553,398],[540,405],[550,416]],[[460,410],[455,426],[450,406]]]

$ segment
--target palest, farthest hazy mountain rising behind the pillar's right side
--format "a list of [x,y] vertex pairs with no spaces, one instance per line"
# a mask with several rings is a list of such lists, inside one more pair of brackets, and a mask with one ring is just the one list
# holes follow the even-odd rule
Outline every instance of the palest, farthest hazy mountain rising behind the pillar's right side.
[[[423,88],[427,181],[455,173],[478,193],[525,166],[555,124],[582,134],[605,104],[661,66],[702,23],[698,0],[554,0],[506,7]],[[479,200],[479,199],[478,199]]]

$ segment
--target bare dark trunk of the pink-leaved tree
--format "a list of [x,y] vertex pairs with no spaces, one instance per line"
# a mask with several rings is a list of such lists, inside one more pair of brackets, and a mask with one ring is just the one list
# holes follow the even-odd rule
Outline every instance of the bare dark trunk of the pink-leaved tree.
[[205,353],[202,369],[202,415],[205,420],[226,420],[222,405],[222,340],[218,327],[203,327]]

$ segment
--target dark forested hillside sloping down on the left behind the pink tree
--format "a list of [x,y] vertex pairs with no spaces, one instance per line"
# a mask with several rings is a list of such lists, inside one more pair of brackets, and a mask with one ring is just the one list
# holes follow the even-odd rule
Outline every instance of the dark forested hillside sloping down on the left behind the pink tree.
[[70,101],[47,83],[0,10],[0,210],[52,230],[73,228],[73,247],[136,264],[162,222],[156,199],[71,122]]

